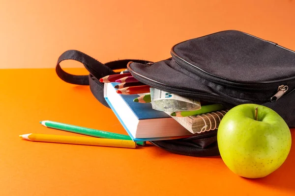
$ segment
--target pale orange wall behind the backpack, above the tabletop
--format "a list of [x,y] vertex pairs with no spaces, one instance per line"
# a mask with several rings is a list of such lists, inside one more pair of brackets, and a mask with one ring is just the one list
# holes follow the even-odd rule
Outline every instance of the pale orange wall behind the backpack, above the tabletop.
[[68,49],[158,61],[180,41],[226,29],[295,50],[295,1],[0,0],[0,68],[55,67]]

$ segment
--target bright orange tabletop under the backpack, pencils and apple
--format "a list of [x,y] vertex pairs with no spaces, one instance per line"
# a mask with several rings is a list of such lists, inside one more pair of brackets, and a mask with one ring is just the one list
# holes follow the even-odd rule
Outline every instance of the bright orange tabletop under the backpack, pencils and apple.
[[[42,120],[126,132],[89,86],[65,83],[54,69],[0,70],[0,78],[0,196],[295,195],[295,145],[277,171],[250,180],[220,157],[182,156],[150,143],[129,149],[21,140],[31,132],[78,135]],[[292,136],[295,144],[295,129]]]

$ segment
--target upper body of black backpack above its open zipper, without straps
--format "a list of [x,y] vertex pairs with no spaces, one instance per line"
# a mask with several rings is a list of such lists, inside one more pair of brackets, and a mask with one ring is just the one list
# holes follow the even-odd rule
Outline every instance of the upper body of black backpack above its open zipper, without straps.
[[[172,58],[128,70],[139,81],[180,96],[228,108],[266,105],[295,126],[295,52],[240,31],[221,31],[176,44]],[[278,87],[288,91],[271,102]],[[286,102],[286,100],[290,102]]]

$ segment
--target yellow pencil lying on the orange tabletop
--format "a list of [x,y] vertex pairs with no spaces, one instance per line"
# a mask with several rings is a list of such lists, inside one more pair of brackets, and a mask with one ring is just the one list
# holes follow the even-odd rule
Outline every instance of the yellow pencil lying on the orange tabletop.
[[103,147],[128,147],[128,148],[136,147],[136,142],[133,142],[131,140],[117,140],[117,139],[106,139],[106,138],[47,135],[47,134],[36,134],[36,133],[20,135],[20,138],[29,140],[29,141],[34,141],[34,142],[79,144],[79,145],[103,146]]

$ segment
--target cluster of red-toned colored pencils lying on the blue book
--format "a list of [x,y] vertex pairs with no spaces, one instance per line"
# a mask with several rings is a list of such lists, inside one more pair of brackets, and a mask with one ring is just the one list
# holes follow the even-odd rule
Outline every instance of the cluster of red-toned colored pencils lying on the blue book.
[[[120,73],[120,74],[107,75],[105,77],[100,78],[99,81],[103,83],[110,83],[110,82],[120,83],[116,85],[115,88],[118,89],[116,92],[122,95],[149,93],[149,88],[150,88],[150,86],[145,85],[144,83],[135,79],[131,75],[131,73],[128,73],[127,71],[124,71],[124,73]],[[142,98],[139,98],[138,100],[142,100]],[[140,102],[138,100],[134,100],[134,101]]]

